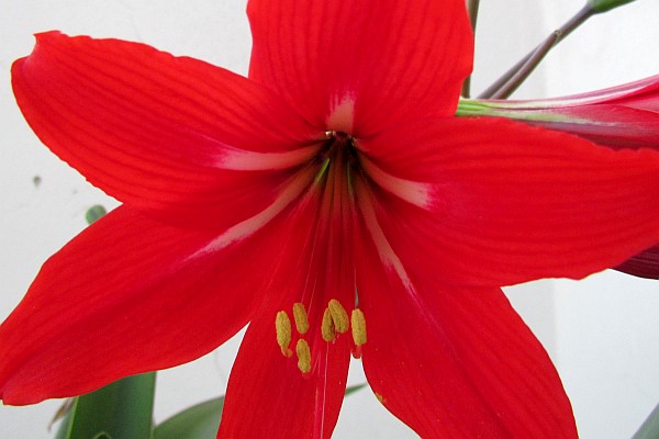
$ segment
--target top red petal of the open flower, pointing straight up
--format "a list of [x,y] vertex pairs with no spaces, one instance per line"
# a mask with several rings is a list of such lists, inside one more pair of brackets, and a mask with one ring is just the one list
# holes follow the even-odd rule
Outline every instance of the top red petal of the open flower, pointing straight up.
[[250,0],[249,77],[314,126],[370,136],[403,119],[453,115],[471,71],[462,0]]

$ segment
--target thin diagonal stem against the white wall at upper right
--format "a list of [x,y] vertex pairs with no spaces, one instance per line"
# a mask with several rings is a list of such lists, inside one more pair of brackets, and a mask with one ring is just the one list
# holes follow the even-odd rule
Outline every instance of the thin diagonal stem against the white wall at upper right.
[[505,99],[510,97],[526,80],[526,78],[528,78],[552,47],[595,13],[596,12],[590,4],[583,7],[574,16],[561,27],[554,31],[543,43],[540,43],[540,45],[529,52],[492,86],[483,91],[479,95],[479,99]]

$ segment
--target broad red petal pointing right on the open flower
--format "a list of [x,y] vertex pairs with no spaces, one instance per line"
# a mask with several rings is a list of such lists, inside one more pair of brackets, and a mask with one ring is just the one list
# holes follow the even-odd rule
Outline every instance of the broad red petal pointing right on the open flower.
[[582,278],[659,240],[654,150],[615,151],[499,119],[426,121],[360,144],[416,189],[403,201],[369,173],[386,189],[376,211],[391,246],[444,282]]

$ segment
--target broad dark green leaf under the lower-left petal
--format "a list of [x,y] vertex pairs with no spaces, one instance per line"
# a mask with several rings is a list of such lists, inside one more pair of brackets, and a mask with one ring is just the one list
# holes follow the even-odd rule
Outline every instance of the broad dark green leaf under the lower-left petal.
[[150,439],[155,389],[150,372],[78,396],[56,439]]

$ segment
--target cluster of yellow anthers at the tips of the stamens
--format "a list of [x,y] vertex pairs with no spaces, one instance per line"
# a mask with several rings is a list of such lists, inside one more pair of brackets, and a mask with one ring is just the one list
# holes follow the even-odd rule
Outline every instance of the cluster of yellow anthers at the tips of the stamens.
[[[298,358],[298,369],[303,375],[306,375],[313,369],[312,349],[310,342],[305,338],[311,328],[309,315],[304,304],[300,302],[294,303],[291,311],[297,334],[293,334],[293,325],[291,324],[289,313],[283,309],[279,311],[275,317],[277,345],[279,345],[281,353],[286,358],[291,358],[293,356],[291,345],[293,344],[293,339],[297,339],[294,342],[294,351],[295,357]],[[336,299],[332,299],[327,303],[321,319],[321,338],[327,344],[333,344],[338,337],[347,334],[350,328],[353,336],[353,356],[355,358],[360,358],[361,346],[366,344],[366,317],[364,316],[364,312],[359,308],[354,308],[350,316],[348,316],[346,308],[340,302]],[[314,333],[312,331],[312,334]]]

